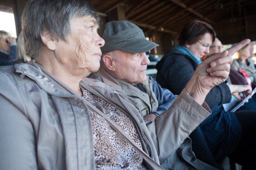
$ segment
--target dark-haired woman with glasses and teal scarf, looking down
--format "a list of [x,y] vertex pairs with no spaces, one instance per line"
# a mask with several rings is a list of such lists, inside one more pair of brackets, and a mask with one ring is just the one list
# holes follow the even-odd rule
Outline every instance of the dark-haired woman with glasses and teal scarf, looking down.
[[[209,46],[214,39],[215,31],[206,22],[193,20],[185,25],[180,33],[180,44],[167,52],[156,65],[157,82],[179,95],[201,63],[200,59],[209,53]],[[230,102],[231,94],[238,96],[238,92],[249,93],[251,90],[250,86],[226,83],[212,88],[205,98],[212,108],[212,115],[199,125],[216,160],[228,155],[244,168],[253,164],[248,153],[256,151],[254,141],[250,140],[252,130],[256,128],[256,112],[230,113],[224,111],[221,104]],[[239,96],[237,98],[241,100]],[[248,145],[250,150],[247,149]]]

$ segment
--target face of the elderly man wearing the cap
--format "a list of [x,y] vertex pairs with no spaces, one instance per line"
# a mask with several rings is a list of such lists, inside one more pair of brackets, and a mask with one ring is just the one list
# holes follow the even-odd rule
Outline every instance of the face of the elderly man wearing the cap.
[[146,69],[149,64],[146,53],[128,53],[116,50],[117,61],[115,64],[114,77],[124,80],[132,85],[147,80]]

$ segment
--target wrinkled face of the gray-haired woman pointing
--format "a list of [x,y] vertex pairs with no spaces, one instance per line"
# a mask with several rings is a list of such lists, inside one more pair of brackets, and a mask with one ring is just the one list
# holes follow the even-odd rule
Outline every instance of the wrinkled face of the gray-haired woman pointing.
[[96,72],[100,67],[100,47],[105,44],[97,33],[96,19],[91,16],[73,18],[70,28],[67,42],[60,40],[57,44],[61,49],[58,55],[63,56],[60,62],[84,74]]

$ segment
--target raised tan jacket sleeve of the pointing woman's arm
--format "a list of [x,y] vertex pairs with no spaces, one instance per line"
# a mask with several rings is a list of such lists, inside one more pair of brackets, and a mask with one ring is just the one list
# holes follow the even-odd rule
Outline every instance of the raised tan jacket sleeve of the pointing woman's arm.
[[201,106],[183,89],[169,110],[148,125],[159,160],[172,155],[185,138],[210,114],[211,110],[206,103]]

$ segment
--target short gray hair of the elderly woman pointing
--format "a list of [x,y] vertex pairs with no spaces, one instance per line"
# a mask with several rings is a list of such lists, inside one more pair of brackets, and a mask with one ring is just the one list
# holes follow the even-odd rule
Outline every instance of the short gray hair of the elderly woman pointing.
[[66,41],[71,32],[70,21],[75,17],[100,17],[89,0],[29,0],[22,13],[22,33],[26,54],[38,56],[43,42],[40,33],[47,30],[56,39]]

